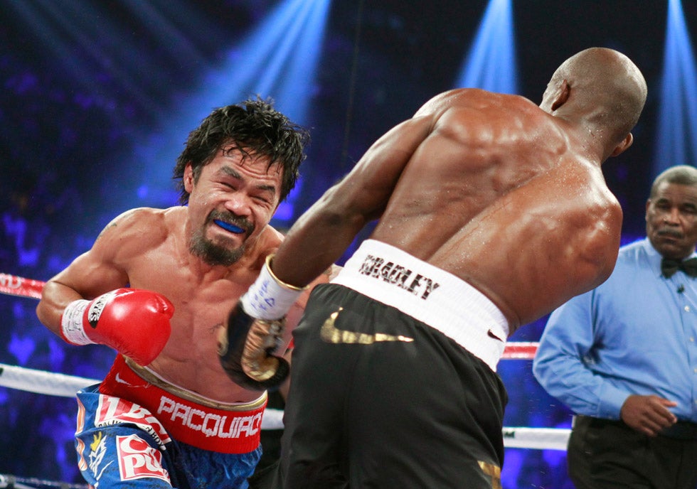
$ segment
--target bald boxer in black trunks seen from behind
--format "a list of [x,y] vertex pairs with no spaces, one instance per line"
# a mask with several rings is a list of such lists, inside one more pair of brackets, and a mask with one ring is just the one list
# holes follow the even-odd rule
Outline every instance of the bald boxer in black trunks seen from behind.
[[501,488],[496,364],[519,326],[612,272],[622,210],[600,167],[632,144],[646,95],[637,66],[605,48],[565,60],[539,106],[442,93],[300,217],[231,314],[264,321],[243,360],[377,224],[310,297],[280,470],[260,485]]

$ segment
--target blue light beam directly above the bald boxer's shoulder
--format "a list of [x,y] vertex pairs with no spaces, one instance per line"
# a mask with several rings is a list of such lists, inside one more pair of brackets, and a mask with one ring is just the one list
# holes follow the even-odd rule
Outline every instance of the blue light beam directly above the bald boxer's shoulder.
[[517,73],[511,0],[490,0],[455,86],[517,94]]

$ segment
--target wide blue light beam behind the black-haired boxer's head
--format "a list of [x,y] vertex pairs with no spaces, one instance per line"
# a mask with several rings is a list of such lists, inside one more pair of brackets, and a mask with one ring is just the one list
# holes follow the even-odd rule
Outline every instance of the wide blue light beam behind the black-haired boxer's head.
[[[146,161],[138,188],[148,205],[170,205],[174,193],[159,186],[169,181],[171,167],[186,139],[186,131],[206,117],[213,107],[239,102],[255,94],[272,97],[275,107],[293,122],[308,125],[307,107],[314,93],[314,72],[321,51],[329,0],[286,0],[235,46],[222,66],[201,81],[198,94],[181,96],[176,119],[163,119],[134,151],[134,161]],[[302,186],[302,179],[297,189]],[[297,192],[291,193],[277,212],[289,220]]]

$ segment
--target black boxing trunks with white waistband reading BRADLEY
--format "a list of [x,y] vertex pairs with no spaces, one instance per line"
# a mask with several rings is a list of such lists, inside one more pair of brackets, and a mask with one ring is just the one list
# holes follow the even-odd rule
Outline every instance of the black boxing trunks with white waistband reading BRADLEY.
[[[492,333],[495,338],[492,338]],[[501,488],[504,316],[368,240],[294,331],[282,463],[258,488]]]

